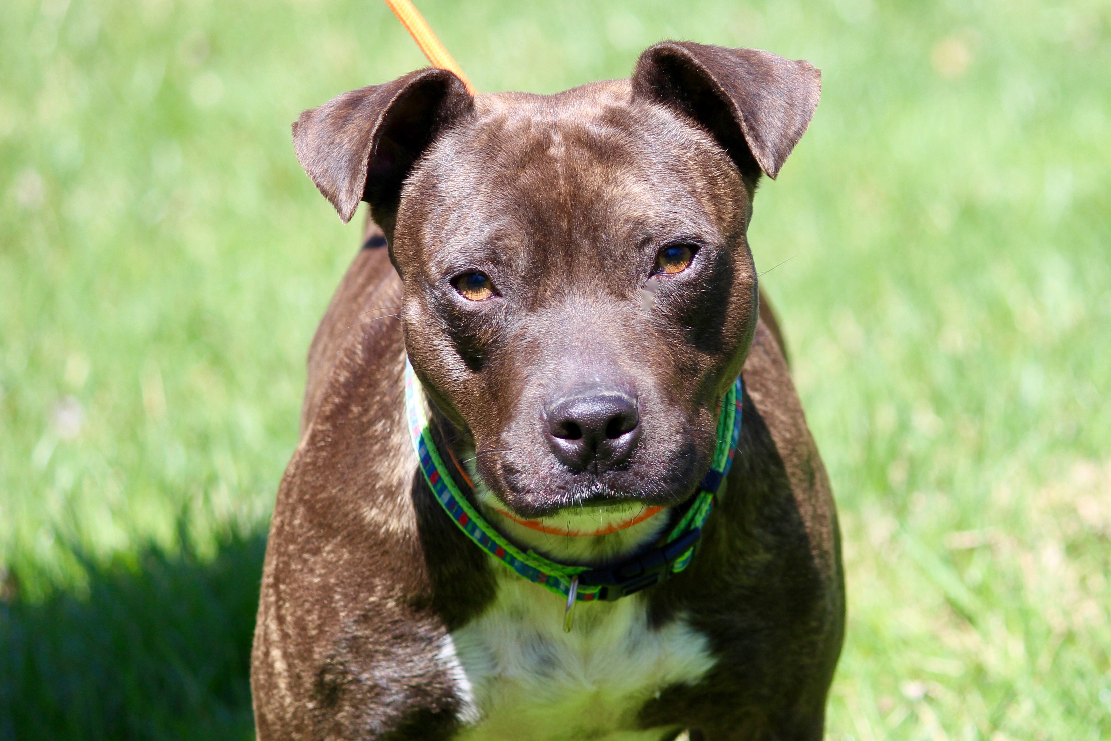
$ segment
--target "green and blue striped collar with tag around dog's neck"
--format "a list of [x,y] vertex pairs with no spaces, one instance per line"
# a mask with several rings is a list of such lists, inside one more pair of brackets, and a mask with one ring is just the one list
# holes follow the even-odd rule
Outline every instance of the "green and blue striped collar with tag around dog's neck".
[[478,512],[459,490],[440,457],[429,428],[423,399],[418,393],[420,381],[406,360],[406,407],[413,448],[421,473],[436,499],[459,529],[479,548],[504,563],[523,579],[540,584],[567,598],[564,628],[570,630],[571,611],[575,602],[613,601],[664,581],[687,568],[694,558],[702,525],[713,509],[713,498],[729,473],[741,434],[743,383],[738,377],[721,402],[718,418],[718,447],[710,471],[699,484],[699,493],[671,528],[662,545],[640,551],[601,569],[556,563],[536,551],[524,552],[513,545]]

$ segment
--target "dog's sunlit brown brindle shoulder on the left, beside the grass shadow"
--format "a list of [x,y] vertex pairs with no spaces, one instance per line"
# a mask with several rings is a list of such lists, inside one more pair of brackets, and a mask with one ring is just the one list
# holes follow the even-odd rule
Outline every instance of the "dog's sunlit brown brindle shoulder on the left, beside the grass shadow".
[[442,550],[453,533],[441,532],[452,525],[414,479],[399,304],[386,250],[362,250],[310,351],[304,429],[274,504],[252,652],[260,739],[368,729],[430,738],[458,722],[428,565],[429,541]]

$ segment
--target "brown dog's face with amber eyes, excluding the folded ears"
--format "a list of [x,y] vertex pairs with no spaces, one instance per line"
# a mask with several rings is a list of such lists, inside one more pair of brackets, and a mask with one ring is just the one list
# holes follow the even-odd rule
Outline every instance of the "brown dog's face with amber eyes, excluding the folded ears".
[[407,348],[511,510],[690,494],[754,329],[748,206],[624,81],[479,99],[426,152],[393,236]]

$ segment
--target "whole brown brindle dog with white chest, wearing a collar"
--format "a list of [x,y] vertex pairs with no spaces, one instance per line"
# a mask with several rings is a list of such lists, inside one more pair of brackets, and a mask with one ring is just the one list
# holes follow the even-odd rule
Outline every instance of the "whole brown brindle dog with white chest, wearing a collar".
[[840,535],[747,241],[819,92],[663,42],[553,96],[424,69],[301,114],[370,218],[270,525],[260,741],[822,738]]

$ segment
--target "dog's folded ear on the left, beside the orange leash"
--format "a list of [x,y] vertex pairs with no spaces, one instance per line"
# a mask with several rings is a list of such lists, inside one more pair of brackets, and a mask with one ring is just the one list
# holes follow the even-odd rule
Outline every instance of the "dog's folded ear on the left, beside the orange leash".
[[392,231],[401,184],[436,136],[472,110],[473,98],[447,70],[410,72],[346,92],[293,123],[293,149],[344,223],[359,201]]

